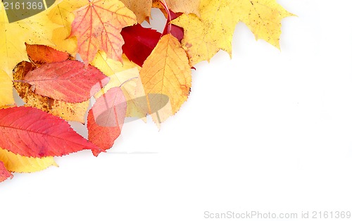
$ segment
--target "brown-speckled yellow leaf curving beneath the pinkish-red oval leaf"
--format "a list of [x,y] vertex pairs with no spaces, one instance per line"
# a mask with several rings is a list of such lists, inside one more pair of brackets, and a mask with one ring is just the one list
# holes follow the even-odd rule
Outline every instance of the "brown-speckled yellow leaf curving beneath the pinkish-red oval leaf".
[[[23,80],[25,74],[33,70],[36,66],[30,62],[23,61],[19,63],[14,70],[13,78],[15,80]],[[85,114],[87,112],[89,101],[82,103],[68,103],[65,101],[56,101],[47,96],[35,94],[30,84],[24,82],[15,82],[15,89],[20,97],[27,103],[27,106],[32,106],[41,110],[56,115],[65,120],[73,120],[84,123]]]

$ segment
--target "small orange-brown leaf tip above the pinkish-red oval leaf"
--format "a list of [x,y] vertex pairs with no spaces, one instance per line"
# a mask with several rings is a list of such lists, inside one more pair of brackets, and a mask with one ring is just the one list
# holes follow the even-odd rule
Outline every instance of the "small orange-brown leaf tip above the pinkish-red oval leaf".
[[49,46],[27,43],[25,43],[25,46],[28,58],[30,58],[30,61],[34,64],[61,62],[70,58],[70,54],[57,51]]

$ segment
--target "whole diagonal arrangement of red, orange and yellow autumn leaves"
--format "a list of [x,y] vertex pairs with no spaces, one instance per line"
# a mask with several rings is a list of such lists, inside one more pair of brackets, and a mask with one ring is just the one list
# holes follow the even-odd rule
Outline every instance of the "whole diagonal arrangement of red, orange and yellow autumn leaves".
[[[276,0],[53,0],[12,18],[14,3],[0,3],[0,182],[54,157],[108,151],[125,118],[151,115],[160,127],[187,101],[194,65],[232,55],[238,23],[279,49],[281,20],[293,15]],[[165,15],[163,32],[146,27],[151,8]]]

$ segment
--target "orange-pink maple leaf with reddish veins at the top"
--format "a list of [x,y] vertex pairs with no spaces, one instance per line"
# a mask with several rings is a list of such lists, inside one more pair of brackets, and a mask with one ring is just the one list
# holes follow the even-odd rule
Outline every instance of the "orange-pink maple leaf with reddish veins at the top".
[[85,63],[96,53],[105,51],[109,58],[122,61],[120,34],[122,27],[137,23],[136,16],[121,1],[86,1],[87,5],[75,11],[70,36],[76,36],[78,53]]

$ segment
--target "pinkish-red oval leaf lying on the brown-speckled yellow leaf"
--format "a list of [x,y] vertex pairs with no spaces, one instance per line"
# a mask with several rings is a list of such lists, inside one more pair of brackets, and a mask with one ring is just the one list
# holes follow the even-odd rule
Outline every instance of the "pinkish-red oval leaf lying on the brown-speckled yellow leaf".
[[80,103],[108,83],[108,77],[92,65],[80,61],[46,63],[25,75],[34,92],[52,99]]

